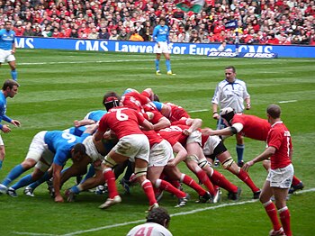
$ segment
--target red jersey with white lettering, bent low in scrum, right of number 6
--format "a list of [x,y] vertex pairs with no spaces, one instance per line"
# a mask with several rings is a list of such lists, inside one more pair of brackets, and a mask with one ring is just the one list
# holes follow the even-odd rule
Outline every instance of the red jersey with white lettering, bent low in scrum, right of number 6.
[[183,124],[171,125],[165,129],[160,130],[158,133],[162,136],[163,139],[168,141],[172,147],[177,141],[185,146],[188,138],[188,136],[184,135],[183,133],[185,129],[189,129],[189,126]]

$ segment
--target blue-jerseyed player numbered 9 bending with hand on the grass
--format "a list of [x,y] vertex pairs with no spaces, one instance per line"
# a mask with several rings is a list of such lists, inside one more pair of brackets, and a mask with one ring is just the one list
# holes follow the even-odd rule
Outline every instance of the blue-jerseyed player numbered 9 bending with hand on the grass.
[[[31,141],[26,158],[21,164],[15,166],[0,184],[0,193],[16,196],[15,190],[17,188],[36,181],[52,166],[55,202],[63,202],[63,197],[60,195],[61,169],[66,164],[67,159],[76,162],[78,159],[86,158],[85,145],[82,142],[94,130],[95,126],[91,126],[81,137],[62,131],[38,132]],[[15,178],[32,167],[35,169],[31,175],[23,177],[14,186],[7,188]]]

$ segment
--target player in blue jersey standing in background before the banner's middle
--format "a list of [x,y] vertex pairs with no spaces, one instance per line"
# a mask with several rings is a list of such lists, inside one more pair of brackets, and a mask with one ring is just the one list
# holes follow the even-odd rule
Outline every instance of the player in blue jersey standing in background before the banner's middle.
[[154,28],[152,38],[156,41],[156,45],[154,46],[154,52],[157,54],[156,59],[156,74],[157,76],[161,75],[161,71],[159,70],[159,59],[161,58],[161,54],[163,53],[166,59],[166,69],[168,76],[175,76],[171,69],[170,62],[170,45],[169,45],[169,27],[166,25],[166,18],[161,17],[159,19],[158,25]]

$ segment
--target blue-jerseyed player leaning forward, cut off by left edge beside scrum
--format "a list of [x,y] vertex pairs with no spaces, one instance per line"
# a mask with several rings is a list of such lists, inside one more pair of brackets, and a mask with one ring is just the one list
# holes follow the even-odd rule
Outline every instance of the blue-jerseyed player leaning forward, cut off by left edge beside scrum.
[[[1,121],[7,123],[12,123],[14,126],[20,126],[20,122],[13,120],[5,115],[6,112],[6,97],[13,98],[17,94],[19,84],[12,79],[7,79],[4,81],[4,86],[0,92],[0,130],[4,133],[11,132],[9,125],[1,124]],[[4,141],[0,135],[0,169],[2,168],[2,163],[5,157]]]

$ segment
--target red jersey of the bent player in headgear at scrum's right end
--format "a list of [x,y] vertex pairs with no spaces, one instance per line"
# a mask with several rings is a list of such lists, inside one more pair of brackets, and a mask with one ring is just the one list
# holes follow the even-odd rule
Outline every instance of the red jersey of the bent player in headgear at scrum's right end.
[[255,115],[236,113],[231,124],[241,123],[243,129],[240,131],[242,136],[248,137],[257,141],[266,141],[271,125],[265,119]]

